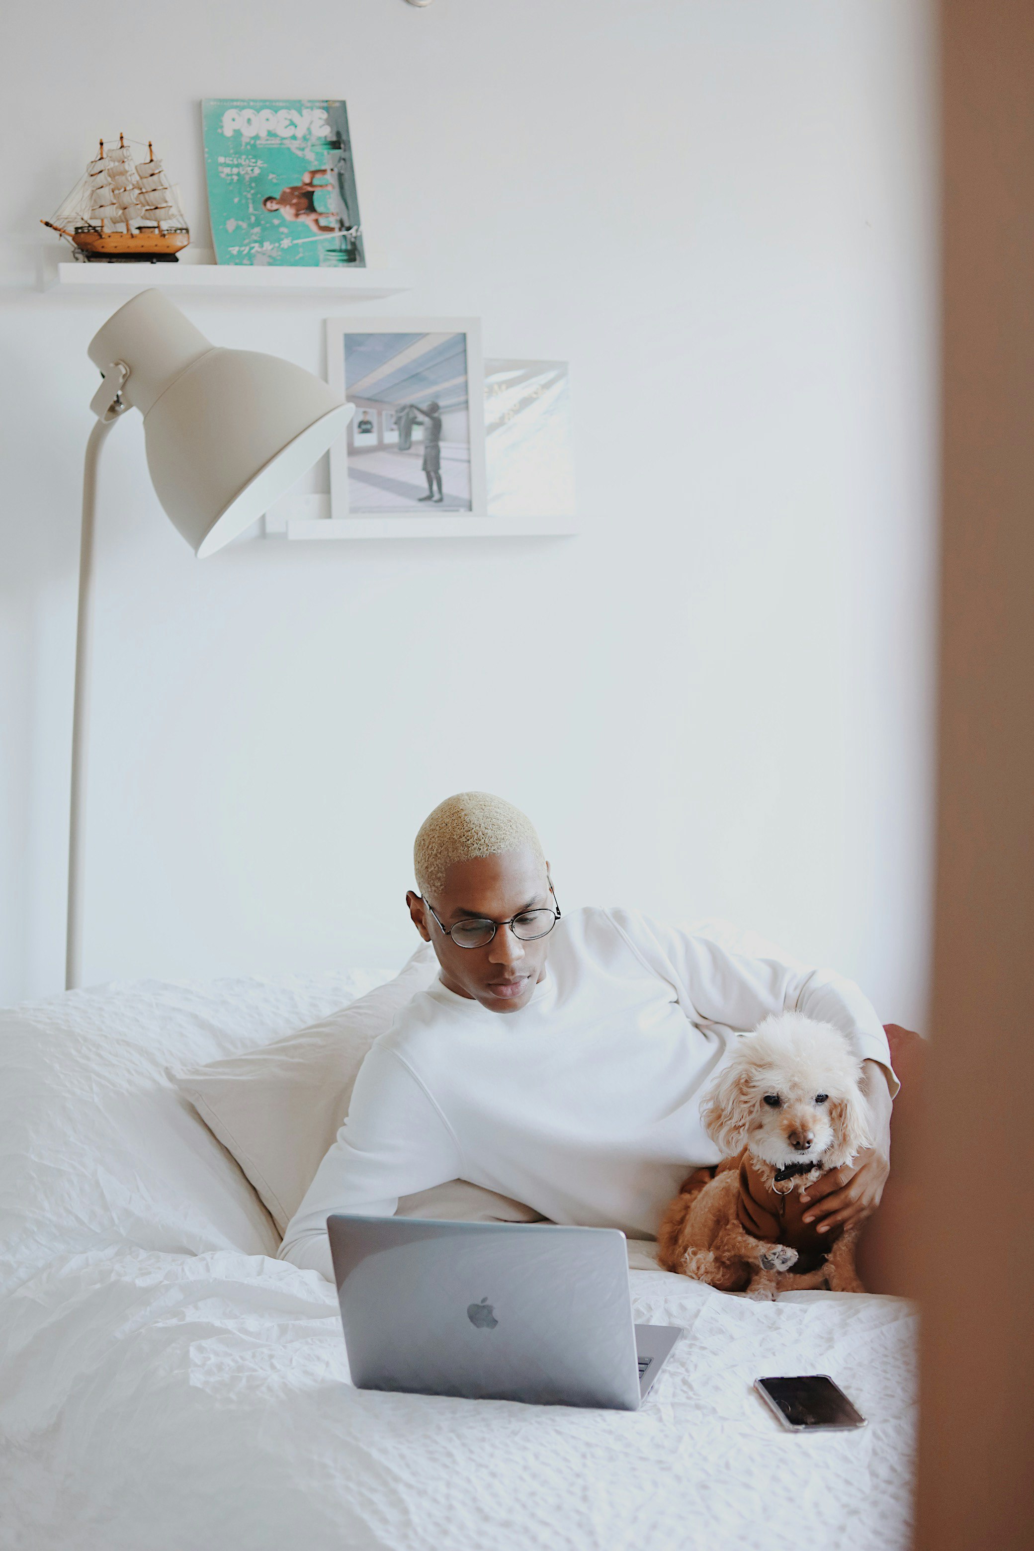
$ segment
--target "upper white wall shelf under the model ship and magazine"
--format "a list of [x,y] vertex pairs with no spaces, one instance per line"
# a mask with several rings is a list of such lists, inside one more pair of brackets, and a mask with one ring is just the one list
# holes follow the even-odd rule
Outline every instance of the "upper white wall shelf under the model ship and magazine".
[[392,270],[321,270],[243,264],[57,264],[45,270],[43,290],[67,295],[133,295],[180,292],[192,296],[333,296],[335,301],[380,301],[409,290],[411,281]]

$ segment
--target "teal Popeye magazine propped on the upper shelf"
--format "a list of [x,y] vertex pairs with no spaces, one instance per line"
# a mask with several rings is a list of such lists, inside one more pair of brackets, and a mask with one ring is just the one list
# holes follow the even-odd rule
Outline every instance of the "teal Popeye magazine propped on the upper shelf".
[[202,116],[217,264],[366,267],[344,102],[208,98]]

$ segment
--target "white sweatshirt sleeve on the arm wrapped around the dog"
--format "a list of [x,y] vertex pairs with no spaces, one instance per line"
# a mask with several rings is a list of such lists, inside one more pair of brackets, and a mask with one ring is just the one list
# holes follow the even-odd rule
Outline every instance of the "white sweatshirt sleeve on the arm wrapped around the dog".
[[901,1084],[876,1008],[834,969],[809,969],[783,955],[752,959],[708,937],[663,926],[634,910],[611,910],[611,920],[639,959],[670,980],[690,1019],[747,1033],[772,1013],[803,1013],[840,1028],[862,1061],[877,1061],[891,1098]]

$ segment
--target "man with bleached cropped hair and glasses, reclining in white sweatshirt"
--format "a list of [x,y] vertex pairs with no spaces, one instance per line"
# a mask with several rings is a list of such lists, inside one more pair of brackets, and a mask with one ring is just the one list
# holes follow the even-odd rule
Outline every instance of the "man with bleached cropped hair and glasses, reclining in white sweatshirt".
[[488,793],[448,797],[414,847],[412,921],[439,976],[371,1048],[338,1140],[281,1256],[332,1278],[332,1211],[391,1216],[467,1179],[553,1222],[653,1238],[687,1171],[718,1162],[704,1089],[736,1033],[797,1010],[863,1059],[874,1145],[809,1197],[817,1231],[874,1211],[898,1079],[850,980],[746,959],[632,910],[561,918],[530,820]]

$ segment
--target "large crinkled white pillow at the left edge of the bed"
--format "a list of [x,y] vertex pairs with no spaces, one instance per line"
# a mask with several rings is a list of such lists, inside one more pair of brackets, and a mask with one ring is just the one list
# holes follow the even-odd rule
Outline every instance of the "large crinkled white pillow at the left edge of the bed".
[[112,1245],[276,1255],[268,1211],[166,1069],[277,1039],[375,983],[143,980],[0,1010],[0,1292]]

